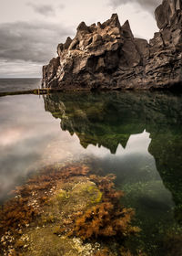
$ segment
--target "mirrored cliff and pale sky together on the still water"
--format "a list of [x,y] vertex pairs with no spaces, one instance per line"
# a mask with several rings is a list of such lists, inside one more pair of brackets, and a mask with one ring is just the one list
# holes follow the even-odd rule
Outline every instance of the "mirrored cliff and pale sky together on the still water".
[[[54,94],[46,95],[44,99],[16,96],[1,98],[0,107],[2,199],[26,174],[66,158],[96,155],[109,159],[111,169],[116,169],[122,160],[122,173],[132,162],[135,164],[128,172],[132,168],[139,169],[134,167],[137,165],[145,168],[151,162],[148,159],[152,159],[152,162],[156,160],[157,171],[173,195],[180,219],[180,96],[115,92]],[[148,145],[151,155],[147,152]],[[140,161],[144,156],[146,163]],[[152,168],[156,170],[156,166]]]

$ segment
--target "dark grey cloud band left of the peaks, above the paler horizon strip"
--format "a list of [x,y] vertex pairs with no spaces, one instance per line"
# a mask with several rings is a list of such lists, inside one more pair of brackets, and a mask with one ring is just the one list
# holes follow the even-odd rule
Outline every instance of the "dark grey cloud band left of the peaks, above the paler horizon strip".
[[56,45],[72,34],[70,27],[50,23],[0,24],[0,59],[45,63],[56,56]]

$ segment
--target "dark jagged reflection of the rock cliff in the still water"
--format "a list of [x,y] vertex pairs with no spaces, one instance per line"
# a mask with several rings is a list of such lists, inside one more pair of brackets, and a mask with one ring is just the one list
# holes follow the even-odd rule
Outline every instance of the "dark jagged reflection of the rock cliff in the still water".
[[131,134],[151,134],[150,154],[179,206],[182,203],[182,101],[163,93],[56,94],[45,96],[45,110],[76,133],[80,144],[98,144],[116,153]]

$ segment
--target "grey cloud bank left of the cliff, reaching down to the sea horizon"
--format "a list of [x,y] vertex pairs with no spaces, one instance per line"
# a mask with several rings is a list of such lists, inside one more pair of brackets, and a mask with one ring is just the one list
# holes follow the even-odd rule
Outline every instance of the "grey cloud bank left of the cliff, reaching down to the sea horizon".
[[0,24],[0,35],[1,78],[40,77],[58,43],[74,32],[58,24],[15,22]]

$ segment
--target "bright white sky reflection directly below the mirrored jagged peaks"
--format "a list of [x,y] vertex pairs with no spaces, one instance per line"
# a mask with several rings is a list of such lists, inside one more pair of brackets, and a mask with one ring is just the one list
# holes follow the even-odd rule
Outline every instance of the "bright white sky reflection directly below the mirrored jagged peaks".
[[146,131],[130,135],[125,148],[121,144],[118,145],[116,155],[110,154],[106,148],[94,148],[92,145],[88,146],[88,151],[99,156],[104,163],[104,168],[108,172],[115,172],[117,178],[122,179],[127,176],[128,182],[133,178],[136,182],[144,179],[143,176],[147,172],[145,176],[147,179],[161,180],[156,161],[148,152],[151,143],[149,136],[150,134]]

